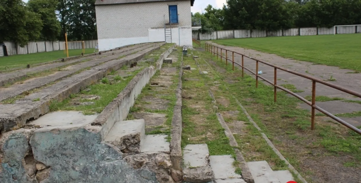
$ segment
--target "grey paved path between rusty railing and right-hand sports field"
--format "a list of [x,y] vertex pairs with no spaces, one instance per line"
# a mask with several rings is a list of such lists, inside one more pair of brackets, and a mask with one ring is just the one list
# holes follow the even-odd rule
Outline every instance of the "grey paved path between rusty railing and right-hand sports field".
[[[223,46],[213,43],[221,48],[225,48],[231,51],[235,51],[238,53],[243,53],[245,55],[249,55],[252,58],[257,58],[262,61],[266,61],[270,64],[277,65],[279,67],[284,67],[292,71],[296,71],[305,75],[309,75],[312,77],[316,77],[321,80],[330,79],[332,76],[336,79],[336,81],[329,81],[332,84],[336,84],[342,86],[344,88],[356,91],[361,93],[361,73],[347,73],[353,72],[353,70],[348,69],[340,69],[339,67],[325,66],[321,64],[314,64],[311,62],[304,61],[296,61],[293,59],[283,58],[275,54],[263,53],[252,49],[245,49],[233,46]],[[216,49],[217,52],[217,49]],[[224,52],[224,51],[223,51]],[[218,53],[221,53],[221,49],[218,50]],[[232,59],[232,54],[228,54],[228,58]],[[234,56],[235,62],[242,63],[242,56],[235,54]],[[252,70],[256,71],[256,61],[253,61],[249,58],[244,58],[244,66]],[[267,66],[266,64],[259,63],[259,71],[262,71],[262,76],[266,79],[273,81],[274,80],[274,68]],[[248,72],[248,71],[247,71]],[[248,72],[249,73],[249,72]],[[305,79],[300,76],[293,75],[291,73],[285,71],[277,71],[277,84],[293,84],[296,86],[297,90],[304,90],[304,92],[297,93],[302,97],[312,94],[312,81]],[[344,93],[342,91],[333,89],[329,86],[325,86],[322,84],[316,84],[316,95],[323,95],[328,97],[340,97],[348,100],[361,101],[361,98],[355,98],[352,95]],[[347,103],[338,101],[335,102],[318,102],[318,106],[325,107],[327,111],[336,114],[336,113],[350,113],[353,111],[361,111],[361,104],[358,103]],[[330,107],[332,105],[332,107]],[[301,107],[310,110],[310,106],[301,104]],[[326,107],[327,106],[327,107]],[[349,122],[354,126],[361,126],[361,117],[357,118],[343,118],[345,121]]]

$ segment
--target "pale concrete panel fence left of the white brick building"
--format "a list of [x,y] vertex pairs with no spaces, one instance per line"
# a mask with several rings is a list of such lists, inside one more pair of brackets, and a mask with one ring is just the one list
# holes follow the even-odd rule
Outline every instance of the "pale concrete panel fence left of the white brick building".
[[[98,40],[84,41],[84,48],[95,48]],[[13,41],[4,41],[7,55],[20,55],[29,53],[52,52],[57,50],[65,50],[65,41],[30,41],[24,47]],[[69,50],[82,49],[82,42],[68,42]],[[4,52],[3,52],[4,50]],[[0,57],[6,55],[5,49],[0,49]]]

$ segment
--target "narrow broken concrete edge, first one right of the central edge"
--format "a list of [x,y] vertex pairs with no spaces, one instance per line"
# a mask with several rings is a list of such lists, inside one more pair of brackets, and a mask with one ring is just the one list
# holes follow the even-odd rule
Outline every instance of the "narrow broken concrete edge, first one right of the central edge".
[[[210,94],[213,95],[212,91],[210,91]],[[223,116],[221,113],[216,113],[217,119],[223,129],[225,130],[225,134],[227,138],[229,139],[229,144],[232,147],[238,147],[238,143],[236,139],[234,138],[232,131],[229,129],[228,125],[226,124],[226,121],[223,119]],[[252,177],[251,170],[249,170],[247,166],[247,162],[245,161],[242,152],[239,151],[238,148],[233,148],[236,153],[236,160],[239,162],[238,167],[242,170],[242,178],[247,183],[255,183],[255,180]]]

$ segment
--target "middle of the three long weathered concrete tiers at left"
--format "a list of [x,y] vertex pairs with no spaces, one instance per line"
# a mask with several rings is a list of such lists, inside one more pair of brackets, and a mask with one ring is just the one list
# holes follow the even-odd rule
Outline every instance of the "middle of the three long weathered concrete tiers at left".
[[84,68],[95,67],[95,66],[98,66],[99,64],[103,64],[105,62],[115,60],[119,56],[127,56],[127,55],[134,53],[135,51],[147,49],[151,46],[152,45],[148,44],[145,46],[140,46],[139,48],[132,48],[129,51],[123,51],[121,54],[109,55],[104,58],[99,57],[99,58],[93,59],[92,61],[87,61],[87,62],[79,63],[76,65],[68,66],[63,69],[64,71],[58,71],[57,73],[52,74],[52,75],[48,75],[45,77],[38,77],[38,78],[35,78],[32,80],[27,80],[27,81],[24,81],[23,83],[14,84],[14,85],[10,86],[9,88],[0,88],[0,101],[3,101],[5,99],[11,98],[11,97],[15,97],[16,95],[20,95],[20,94],[22,94],[26,91],[32,90],[32,89],[40,88],[53,81],[58,81],[65,77],[69,77],[70,75],[72,75]]

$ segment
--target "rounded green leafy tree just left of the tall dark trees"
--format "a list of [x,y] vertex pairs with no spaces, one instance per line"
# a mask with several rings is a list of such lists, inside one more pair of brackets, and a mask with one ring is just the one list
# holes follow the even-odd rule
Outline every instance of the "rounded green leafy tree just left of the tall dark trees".
[[60,33],[60,22],[55,14],[57,4],[56,0],[29,0],[27,3],[33,12],[40,14],[43,22],[42,40],[56,40]]

